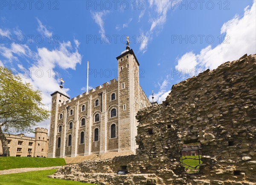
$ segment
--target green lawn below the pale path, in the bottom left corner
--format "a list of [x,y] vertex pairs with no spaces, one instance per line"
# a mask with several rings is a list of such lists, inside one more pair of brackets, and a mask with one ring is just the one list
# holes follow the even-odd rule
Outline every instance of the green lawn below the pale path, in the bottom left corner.
[[25,173],[0,175],[0,185],[93,185],[47,177],[48,175],[54,174],[56,170],[28,171]]

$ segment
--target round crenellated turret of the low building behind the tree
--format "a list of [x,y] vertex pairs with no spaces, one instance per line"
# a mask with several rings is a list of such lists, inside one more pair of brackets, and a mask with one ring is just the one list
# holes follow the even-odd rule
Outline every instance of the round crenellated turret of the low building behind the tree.
[[48,141],[48,130],[46,128],[35,128],[35,157],[47,157]]

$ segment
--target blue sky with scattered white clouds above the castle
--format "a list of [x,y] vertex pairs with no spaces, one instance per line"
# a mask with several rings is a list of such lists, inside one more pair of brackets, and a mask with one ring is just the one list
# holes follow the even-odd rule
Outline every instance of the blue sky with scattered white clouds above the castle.
[[[0,1],[0,65],[43,93],[58,79],[72,98],[116,78],[125,36],[140,85],[162,102],[172,85],[256,53],[255,0]],[[39,124],[45,126],[49,120]]]

